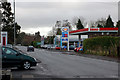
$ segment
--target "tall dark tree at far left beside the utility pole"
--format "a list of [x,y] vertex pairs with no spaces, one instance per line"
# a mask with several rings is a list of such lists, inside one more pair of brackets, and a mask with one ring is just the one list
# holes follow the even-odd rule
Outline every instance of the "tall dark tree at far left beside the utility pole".
[[[2,9],[3,9],[3,17],[2,17],[2,31],[8,32],[8,43],[12,44],[14,41],[14,14],[12,13],[11,4],[9,2],[3,2],[2,3]],[[20,32],[20,25],[15,23],[16,27],[16,37],[18,36]]]

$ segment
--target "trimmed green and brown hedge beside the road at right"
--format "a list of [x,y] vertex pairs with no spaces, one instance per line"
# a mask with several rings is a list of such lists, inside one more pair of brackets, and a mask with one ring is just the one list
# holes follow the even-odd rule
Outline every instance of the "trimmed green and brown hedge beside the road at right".
[[117,56],[120,37],[101,36],[83,41],[84,53],[103,56]]

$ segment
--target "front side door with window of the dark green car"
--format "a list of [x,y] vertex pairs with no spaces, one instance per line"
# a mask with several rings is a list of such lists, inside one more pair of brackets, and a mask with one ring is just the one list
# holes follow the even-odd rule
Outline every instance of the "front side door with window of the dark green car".
[[20,56],[16,55],[18,52],[12,48],[2,48],[2,61],[3,66],[17,66],[20,65]]

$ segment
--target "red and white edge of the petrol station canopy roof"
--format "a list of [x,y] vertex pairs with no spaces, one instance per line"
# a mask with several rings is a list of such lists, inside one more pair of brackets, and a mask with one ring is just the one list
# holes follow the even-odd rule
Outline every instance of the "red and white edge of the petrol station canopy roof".
[[79,30],[70,31],[70,34],[78,35],[82,33],[97,33],[97,32],[118,32],[118,28],[84,28]]

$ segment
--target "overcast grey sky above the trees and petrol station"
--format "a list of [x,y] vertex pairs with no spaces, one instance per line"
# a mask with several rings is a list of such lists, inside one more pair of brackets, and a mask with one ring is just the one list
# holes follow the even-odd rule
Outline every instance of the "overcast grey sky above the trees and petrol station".
[[[13,0],[9,0],[12,2]],[[83,17],[86,22],[107,18],[111,15],[113,21],[118,20],[118,0],[21,0],[16,2],[16,21],[21,25],[21,31],[34,34],[40,31],[47,35],[57,20],[68,19],[71,23],[74,17]]]

